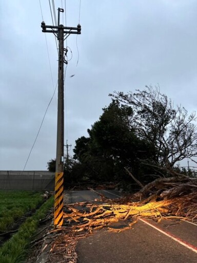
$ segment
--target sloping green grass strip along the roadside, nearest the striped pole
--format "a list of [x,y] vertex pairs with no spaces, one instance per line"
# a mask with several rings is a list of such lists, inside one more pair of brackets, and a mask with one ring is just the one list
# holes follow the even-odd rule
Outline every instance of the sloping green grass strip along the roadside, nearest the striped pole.
[[14,234],[0,248],[1,263],[22,263],[25,262],[27,248],[32,235],[36,232],[40,219],[44,219],[47,211],[53,206],[54,198],[50,197],[36,213],[27,218],[21,225],[18,232]]

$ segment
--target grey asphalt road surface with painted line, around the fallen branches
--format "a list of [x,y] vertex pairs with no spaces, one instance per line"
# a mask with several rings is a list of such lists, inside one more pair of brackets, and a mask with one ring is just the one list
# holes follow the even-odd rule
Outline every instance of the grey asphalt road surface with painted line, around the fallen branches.
[[[107,198],[120,195],[110,190],[100,190],[100,193]],[[99,196],[90,191],[73,191],[69,202],[93,201],[95,198]],[[78,263],[196,263],[197,225],[185,221],[156,223],[142,219],[133,229],[124,232],[96,231],[78,241],[76,252]]]

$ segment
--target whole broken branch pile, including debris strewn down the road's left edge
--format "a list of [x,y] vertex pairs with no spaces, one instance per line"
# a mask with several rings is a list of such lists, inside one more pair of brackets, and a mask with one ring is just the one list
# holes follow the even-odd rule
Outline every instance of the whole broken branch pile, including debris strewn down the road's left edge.
[[[90,235],[93,230],[108,227],[109,231],[120,232],[132,228],[140,217],[157,221],[162,218],[197,220],[197,178],[176,176],[159,178],[145,185],[139,192],[120,199],[106,199],[80,202],[64,206],[64,226],[57,234],[51,248],[50,259],[60,262],[77,261],[75,247],[77,240]],[[114,223],[125,223],[117,228]],[[61,261],[62,260],[62,261]],[[59,262],[59,261],[58,261]]]

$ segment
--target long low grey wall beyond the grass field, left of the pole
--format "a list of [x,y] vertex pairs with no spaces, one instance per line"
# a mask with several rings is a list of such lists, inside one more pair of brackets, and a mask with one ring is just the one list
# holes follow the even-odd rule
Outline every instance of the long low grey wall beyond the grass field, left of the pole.
[[54,191],[55,173],[48,171],[0,171],[1,190]]

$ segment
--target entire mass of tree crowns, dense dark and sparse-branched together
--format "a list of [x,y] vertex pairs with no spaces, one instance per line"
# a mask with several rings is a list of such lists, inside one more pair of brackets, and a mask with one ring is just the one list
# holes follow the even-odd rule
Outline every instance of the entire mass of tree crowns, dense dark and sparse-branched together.
[[[146,183],[152,176],[180,171],[180,161],[197,156],[195,113],[174,107],[158,87],[109,96],[111,103],[88,137],[75,141],[66,166],[69,178],[128,180],[130,171]],[[54,160],[48,167],[54,168]]]

